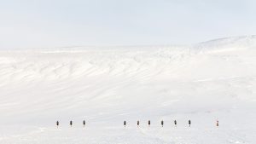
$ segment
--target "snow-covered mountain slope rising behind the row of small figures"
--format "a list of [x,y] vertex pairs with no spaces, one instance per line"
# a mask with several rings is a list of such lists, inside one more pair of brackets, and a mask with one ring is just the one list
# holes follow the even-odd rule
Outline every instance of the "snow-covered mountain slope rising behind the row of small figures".
[[101,121],[153,112],[158,118],[253,106],[255,39],[230,37],[188,47],[1,51],[0,115],[5,123],[51,123],[84,115]]

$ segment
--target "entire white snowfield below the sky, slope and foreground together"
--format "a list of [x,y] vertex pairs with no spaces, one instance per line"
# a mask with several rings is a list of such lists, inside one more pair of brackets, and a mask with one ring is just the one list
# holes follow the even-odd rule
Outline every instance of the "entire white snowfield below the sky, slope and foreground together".
[[0,82],[1,144],[256,143],[254,36],[1,51]]

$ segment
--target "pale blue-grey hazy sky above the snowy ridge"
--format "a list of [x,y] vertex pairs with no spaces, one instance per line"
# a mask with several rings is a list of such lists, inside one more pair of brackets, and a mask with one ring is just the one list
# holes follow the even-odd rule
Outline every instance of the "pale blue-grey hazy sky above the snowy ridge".
[[256,33],[253,0],[0,0],[0,49],[198,43]]

